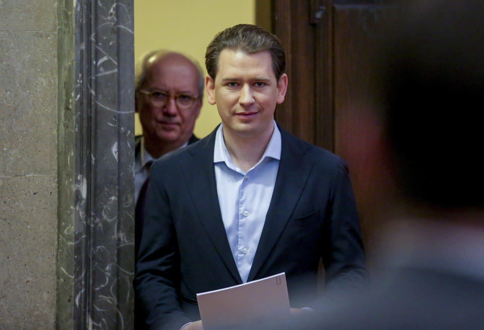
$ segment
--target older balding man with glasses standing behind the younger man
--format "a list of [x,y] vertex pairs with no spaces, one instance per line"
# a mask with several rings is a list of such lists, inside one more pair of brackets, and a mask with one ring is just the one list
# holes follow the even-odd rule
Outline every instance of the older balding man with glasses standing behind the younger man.
[[135,252],[144,223],[148,174],[154,160],[199,139],[193,135],[203,100],[204,77],[187,56],[151,51],[137,63],[135,106],[143,135],[135,140]]

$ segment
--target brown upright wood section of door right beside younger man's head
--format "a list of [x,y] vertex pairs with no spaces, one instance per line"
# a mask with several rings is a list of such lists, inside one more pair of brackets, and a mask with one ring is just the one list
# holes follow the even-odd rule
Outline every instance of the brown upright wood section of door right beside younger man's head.
[[321,68],[321,63],[326,62],[321,58],[326,46],[322,42],[324,23],[310,23],[310,1],[280,0],[273,6],[274,32],[285,49],[289,80],[286,99],[276,109],[276,120],[297,137],[318,144],[319,120],[316,119],[322,111],[318,112],[316,95],[322,93],[320,80],[327,72]]

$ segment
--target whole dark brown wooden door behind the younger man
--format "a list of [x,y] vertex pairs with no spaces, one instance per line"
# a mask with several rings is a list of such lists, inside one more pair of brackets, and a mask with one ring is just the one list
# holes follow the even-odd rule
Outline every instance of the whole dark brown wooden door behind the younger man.
[[368,119],[361,110],[370,105],[357,95],[372,92],[366,59],[391,7],[376,0],[276,0],[272,6],[272,28],[285,47],[289,77],[276,120],[348,161],[371,263],[375,228],[390,208],[391,193],[385,188],[390,186],[385,160],[355,153],[362,141],[374,138],[373,126],[366,129],[360,122]]

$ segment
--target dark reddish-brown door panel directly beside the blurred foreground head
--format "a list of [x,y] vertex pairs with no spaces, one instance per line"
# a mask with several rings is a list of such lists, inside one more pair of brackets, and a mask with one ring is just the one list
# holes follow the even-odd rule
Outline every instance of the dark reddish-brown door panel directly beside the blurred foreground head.
[[391,208],[392,184],[381,150],[375,112],[376,74],[369,61],[378,51],[391,7],[334,5],[334,152],[348,161],[367,249],[375,250],[375,230]]

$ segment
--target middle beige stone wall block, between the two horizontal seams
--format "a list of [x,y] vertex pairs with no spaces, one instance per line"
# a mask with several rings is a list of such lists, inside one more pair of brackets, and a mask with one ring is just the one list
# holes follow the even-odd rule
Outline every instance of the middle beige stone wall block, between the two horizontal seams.
[[0,176],[55,174],[56,33],[0,32],[0,45]]

